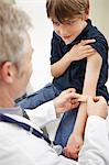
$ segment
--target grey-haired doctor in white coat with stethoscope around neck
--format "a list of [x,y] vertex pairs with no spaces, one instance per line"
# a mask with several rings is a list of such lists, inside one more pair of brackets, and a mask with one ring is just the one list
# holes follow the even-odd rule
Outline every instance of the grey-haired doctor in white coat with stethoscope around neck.
[[[78,162],[58,156],[55,146],[31,121],[32,116],[25,119],[14,103],[25,92],[32,73],[30,24],[23,11],[0,1],[0,165],[109,165],[103,98],[88,98],[85,143]],[[43,105],[42,124],[77,107],[79,98],[74,89],[68,89]]]

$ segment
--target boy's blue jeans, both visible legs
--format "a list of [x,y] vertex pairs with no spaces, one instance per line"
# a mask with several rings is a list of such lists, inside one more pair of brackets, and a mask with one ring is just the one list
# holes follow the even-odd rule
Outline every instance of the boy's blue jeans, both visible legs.
[[[59,94],[61,90],[58,90],[53,84],[47,84],[41,90],[28,96],[25,99],[18,102],[18,105],[21,106],[23,109],[34,109],[40,105],[54,99]],[[61,144],[62,146],[66,145],[67,140],[74,129],[76,116],[77,109],[64,113],[56,132],[56,144]]]

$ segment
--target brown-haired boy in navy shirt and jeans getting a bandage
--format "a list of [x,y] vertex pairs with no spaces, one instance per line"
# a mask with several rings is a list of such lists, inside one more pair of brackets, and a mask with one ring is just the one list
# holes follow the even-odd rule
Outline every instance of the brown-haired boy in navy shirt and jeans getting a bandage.
[[[25,100],[30,101],[29,105],[24,106],[23,101],[22,107],[34,108],[36,97],[41,105],[69,87],[86,96],[101,95],[108,101],[105,86],[108,78],[108,44],[88,19],[89,0],[47,0],[46,11],[54,26],[51,51],[53,84],[29,97]],[[87,58],[77,58],[79,54],[85,54],[85,57],[87,54]],[[67,157],[76,160],[78,156],[86,119],[86,102],[79,105],[78,113],[75,109],[63,116],[55,142],[65,146],[64,154]]]

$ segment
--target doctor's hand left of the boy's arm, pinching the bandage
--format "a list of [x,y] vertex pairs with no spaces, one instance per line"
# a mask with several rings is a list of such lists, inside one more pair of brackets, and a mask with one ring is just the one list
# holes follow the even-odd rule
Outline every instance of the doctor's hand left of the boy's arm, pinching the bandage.
[[79,95],[75,92],[74,88],[62,91],[62,94],[53,100],[56,113],[61,114],[77,108],[79,106],[78,98]]

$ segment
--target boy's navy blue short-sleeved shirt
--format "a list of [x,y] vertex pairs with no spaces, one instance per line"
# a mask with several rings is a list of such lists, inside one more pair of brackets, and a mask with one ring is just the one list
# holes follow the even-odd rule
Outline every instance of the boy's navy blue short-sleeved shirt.
[[[102,57],[102,66],[97,84],[97,95],[103,96],[108,101],[109,94],[107,91],[107,87],[105,86],[108,79],[108,43],[105,36],[98,31],[98,29],[91,24],[90,20],[87,21],[87,26],[83,30],[83,32],[68,45],[66,45],[55,32],[53,32],[51,64],[59,61],[75,44],[86,38],[96,38],[96,42],[92,43],[91,46]],[[87,58],[73,62],[62,76],[53,79],[54,86],[56,86],[56,88],[58,88],[59,90],[73,87],[77,89],[77,92],[81,94],[85,79],[86,63]]]

